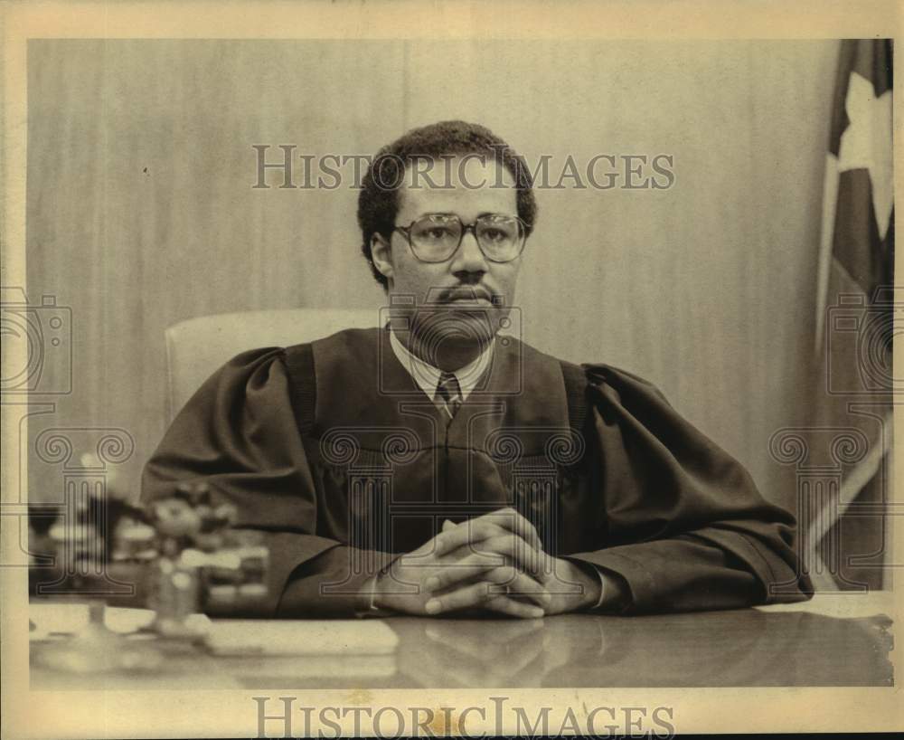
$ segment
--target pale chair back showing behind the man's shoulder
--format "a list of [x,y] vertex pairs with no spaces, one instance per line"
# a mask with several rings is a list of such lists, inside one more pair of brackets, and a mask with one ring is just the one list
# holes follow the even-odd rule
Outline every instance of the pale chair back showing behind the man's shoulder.
[[376,327],[377,309],[289,308],[190,318],[165,331],[166,423],[213,371],[240,352],[328,337],[344,328]]

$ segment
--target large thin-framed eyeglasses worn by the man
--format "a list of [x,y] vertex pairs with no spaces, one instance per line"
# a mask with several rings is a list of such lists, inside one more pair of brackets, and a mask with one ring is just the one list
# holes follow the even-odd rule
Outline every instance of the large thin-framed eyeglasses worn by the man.
[[454,213],[428,213],[393,231],[405,235],[414,256],[422,262],[450,260],[467,232],[474,234],[480,251],[491,262],[513,261],[527,240],[527,225],[505,213],[484,213],[467,225]]

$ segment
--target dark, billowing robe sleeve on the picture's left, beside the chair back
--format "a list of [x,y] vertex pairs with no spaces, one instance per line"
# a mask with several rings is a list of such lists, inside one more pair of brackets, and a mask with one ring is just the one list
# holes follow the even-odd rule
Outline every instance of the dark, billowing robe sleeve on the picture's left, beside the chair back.
[[[315,484],[282,349],[236,356],[201,386],[148,460],[142,500],[172,495],[177,483],[194,480],[238,509],[237,527],[263,533],[268,597],[257,615],[354,616],[369,608],[359,590],[391,556],[356,554],[355,562],[369,568],[346,579],[352,548],[315,534]],[[321,593],[320,584],[330,581],[344,582],[341,593]]]

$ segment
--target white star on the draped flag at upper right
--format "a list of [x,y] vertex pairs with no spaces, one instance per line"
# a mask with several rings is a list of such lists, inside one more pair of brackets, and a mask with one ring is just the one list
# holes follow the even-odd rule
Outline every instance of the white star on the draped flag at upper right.
[[844,129],[838,151],[838,171],[865,169],[872,184],[872,210],[880,239],[889,230],[894,205],[891,166],[891,90],[880,97],[869,80],[851,72],[844,110],[851,121]]

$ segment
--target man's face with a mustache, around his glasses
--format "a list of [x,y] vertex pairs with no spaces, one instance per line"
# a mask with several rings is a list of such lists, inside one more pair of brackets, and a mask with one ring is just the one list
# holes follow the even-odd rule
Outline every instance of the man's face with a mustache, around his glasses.
[[[432,187],[424,176],[416,178],[409,170],[398,192],[396,226],[408,227],[430,213],[455,214],[466,226],[487,213],[517,215],[513,178],[492,157],[485,163],[466,157],[449,165],[431,165],[421,162],[419,171],[426,169],[432,183],[451,187]],[[504,187],[494,186],[500,184]],[[457,251],[444,262],[420,261],[405,234],[398,231],[389,243],[375,237],[372,254],[374,264],[389,280],[390,296],[413,298],[419,325],[426,326],[432,317],[433,330],[442,325],[445,328],[440,331],[447,336],[450,330],[482,336],[486,328],[494,334],[512,306],[521,268],[521,256],[509,262],[487,260],[473,232],[465,233]],[[398,300],[393,303],[400,305]]]

